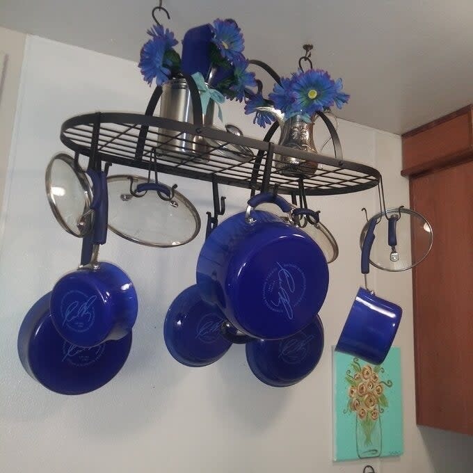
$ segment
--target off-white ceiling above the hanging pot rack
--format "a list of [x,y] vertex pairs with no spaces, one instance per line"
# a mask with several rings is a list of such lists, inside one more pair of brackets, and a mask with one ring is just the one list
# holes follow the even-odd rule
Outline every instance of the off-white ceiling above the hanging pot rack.
[[[156,5],[0,0],[0,25],[137,61]],[[346,120],[399,134],[473,102],[472,0],[164,0],[163,5],[172,16],[163,24],[179,39],[191,26],[234,18],[245,35],[246,56],[282,75],[296,70],[301,45],[312,42],[316,66],[342,77],[351,93],[339,112]]]

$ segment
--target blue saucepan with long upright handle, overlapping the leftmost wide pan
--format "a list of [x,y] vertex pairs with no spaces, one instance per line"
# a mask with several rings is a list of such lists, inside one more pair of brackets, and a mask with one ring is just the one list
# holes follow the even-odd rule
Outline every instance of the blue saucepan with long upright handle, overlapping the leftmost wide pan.
[[125,337],[138,314],[138,298],[128,275],[114,264],[97,262],[99,245],[106,241],[106,174],[91,170],[88,173],[94,182],[93,232],[83,241],[81,266],[63,275],[51,292],[51,316],[56,330],[67,342],[83,347]]

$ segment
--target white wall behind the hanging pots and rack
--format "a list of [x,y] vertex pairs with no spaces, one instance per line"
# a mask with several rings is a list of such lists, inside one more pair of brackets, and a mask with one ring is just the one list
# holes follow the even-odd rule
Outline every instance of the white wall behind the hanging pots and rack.
[[[48,392],[24,373],[16,354],[19,324],[31,304],[79,260],[80,241],[57,225],[44,191],[47,162],[65,150],[61,123],[95,110],[143,111],[150,93],[135,63],[41,38],[27,41],[0,242],[0,471],[361,472],[364,462],[331,460],[330,346],[362,283],[360,208],[374,213],[374,190],[310,199],[337,237],[340,256],[330,265],[321,310],[326,349],[302,383],[284,389],[260,383],[246,365],[243,346],[200,369],[178,364],[166,351],[163,318],[173,298],[195,280],[202,232],[171,249],[145,248],[109,234],[102,257],[129,273],[140,298],[131,355],[111,383],[67,397]],[[262,136],[239,104],[226,105],[224,115],[248,134]],[[347,159],[383,172],[389,202],[408,205],[407,182],[399,176],[399,137],[349,122],[340,123],[339,135]],[[120,171],[111,168],[111,174]],[[211,209],[208,183],[170,176],[163,181],[177,182],[205,222]],[[236,188],[221,186],[221,193],[227,196],[227,214],[241,210],[248,198]],[[370,463],[376,472],[471,471],[472,438],[415,426],[410,273],[372,273],[378,294],[404,308],[396,345],[402,348],[406,453]],[[443,458],[451,464],[444,465]]]

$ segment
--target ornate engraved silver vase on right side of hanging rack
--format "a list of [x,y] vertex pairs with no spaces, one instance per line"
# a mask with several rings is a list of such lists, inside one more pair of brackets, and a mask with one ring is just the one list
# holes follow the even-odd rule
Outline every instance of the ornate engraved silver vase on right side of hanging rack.
[[[314,145],[314,117],[309,123],[301,115],[289,118],[281,125],[279,145],[293,148],[294,150],[316,153]],[[274,166],[281,174],[294,177],[310,177],[318,168],[318,163],[305,161],[296,157],[275,154]]]

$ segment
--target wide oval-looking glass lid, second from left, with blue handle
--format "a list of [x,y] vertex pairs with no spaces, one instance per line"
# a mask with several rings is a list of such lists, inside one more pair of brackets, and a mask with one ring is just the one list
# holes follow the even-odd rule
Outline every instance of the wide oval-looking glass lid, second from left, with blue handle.
[[161,248],[184,245],[197,236],[198,211],[175,189],[159,183],[170,191],[171,198],[155,190],[137,192],[138,185],[149,183],[141,176],[110,176],[107,183],[109,228],[115,234],[134,243]]

